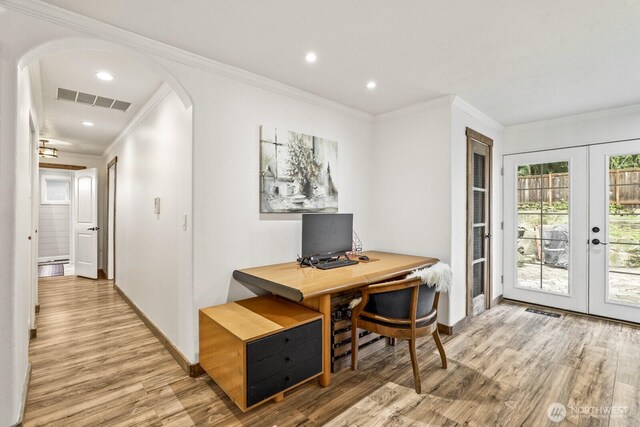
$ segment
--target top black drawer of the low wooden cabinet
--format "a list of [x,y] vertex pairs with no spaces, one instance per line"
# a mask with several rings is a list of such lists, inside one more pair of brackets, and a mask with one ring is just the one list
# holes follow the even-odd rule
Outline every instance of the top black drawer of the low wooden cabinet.
[[322,342],[322,320],[251,341],[247,343],[247,365],[316,340]]

